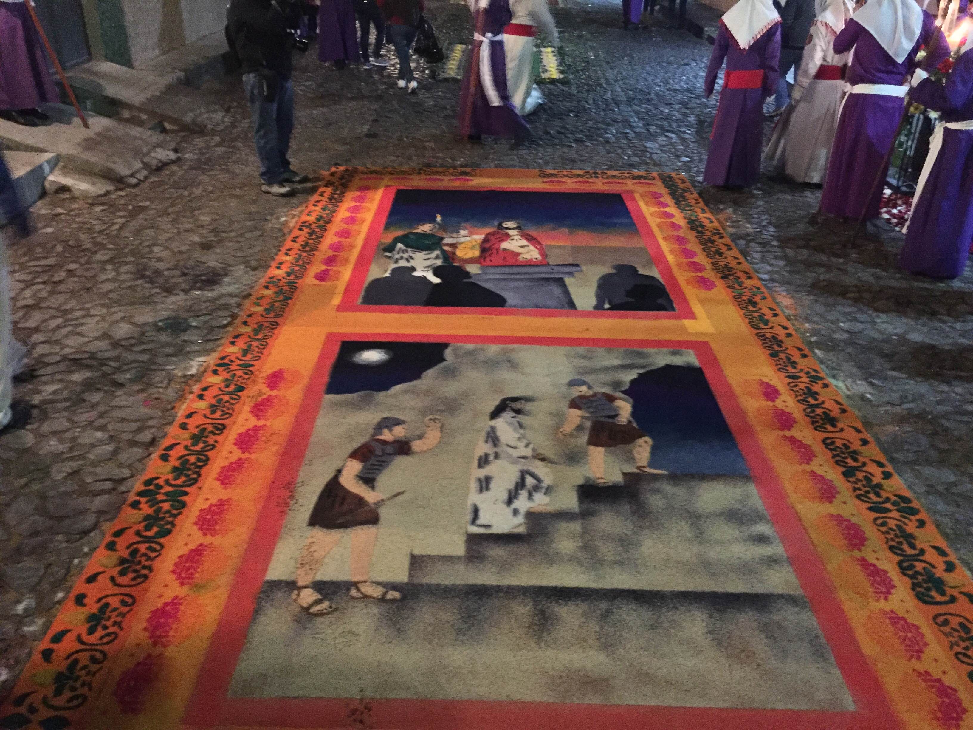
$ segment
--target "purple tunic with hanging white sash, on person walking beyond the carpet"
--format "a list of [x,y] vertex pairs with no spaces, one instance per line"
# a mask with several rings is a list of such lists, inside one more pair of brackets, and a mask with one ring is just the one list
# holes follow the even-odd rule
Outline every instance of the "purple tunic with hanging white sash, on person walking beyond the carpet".
[[[490,0],[484,13],[484,35],[496,36],[503,33],[504,27],[514,18],[508,0]],[[485,41],[486,43],[486,41]],[[523,117],[518,114],[517,107],[510,100],[507,91],[507,57],[503,47],[503,40],[488,41],[490,70],[492,71],[493,86],[502,102],[499,106],[490,106],[486,98],[486,91],[481,78],[472,79],[473,56],[466,66],[463,77],[463,88],[459,94],[459,125],[462,128],[463,115],[466,113],[469,94],[473,91],[473,111],[470,114],[469,134],[479,136],[490,134],[497,137],[521,137],[530,132]],[[473,53],[479,54],[481,42],[475,42]]]

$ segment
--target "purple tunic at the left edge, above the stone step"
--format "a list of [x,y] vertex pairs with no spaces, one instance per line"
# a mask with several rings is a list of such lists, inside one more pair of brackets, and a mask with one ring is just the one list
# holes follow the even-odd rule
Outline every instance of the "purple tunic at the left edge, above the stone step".
[[0,2],[0,110],[57,101],[48,56],[23,3]]

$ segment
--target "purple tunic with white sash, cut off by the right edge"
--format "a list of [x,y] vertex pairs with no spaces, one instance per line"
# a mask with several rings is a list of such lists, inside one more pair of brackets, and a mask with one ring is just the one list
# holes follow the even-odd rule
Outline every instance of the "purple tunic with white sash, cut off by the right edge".
[[[956,60],[940,86],[926,79],[913,99],[940,112],[943,122],[973,120],[973,53]],[[973,129],[943,129],[943,143],[914,203],[899,264],[913,274],[955,278],[963,273],[973,241]]]

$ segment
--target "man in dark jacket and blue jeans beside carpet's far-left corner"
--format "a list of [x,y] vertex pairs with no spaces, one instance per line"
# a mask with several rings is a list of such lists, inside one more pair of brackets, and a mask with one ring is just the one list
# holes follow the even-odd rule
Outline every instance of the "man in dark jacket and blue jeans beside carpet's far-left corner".
[[239,59],[250,102],[260,190],[279,198],[294,195],[291,185],[308,180],[287,159],[294,129],[292,50],[300,21],[297,0],[231,0],[227,9],[227,42]]

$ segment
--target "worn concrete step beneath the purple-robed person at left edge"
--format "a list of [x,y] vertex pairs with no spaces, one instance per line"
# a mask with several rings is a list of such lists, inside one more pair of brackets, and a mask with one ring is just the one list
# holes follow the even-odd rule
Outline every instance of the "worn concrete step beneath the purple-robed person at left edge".
[[54,153],[72,169],[129,187],[179,159],[176,141],[159,132],[97,114],[87,115],[86,129],[69,106],[45,104],[43,109],[53,124],[21,127],[0,120],[0,142],[10,150]]

